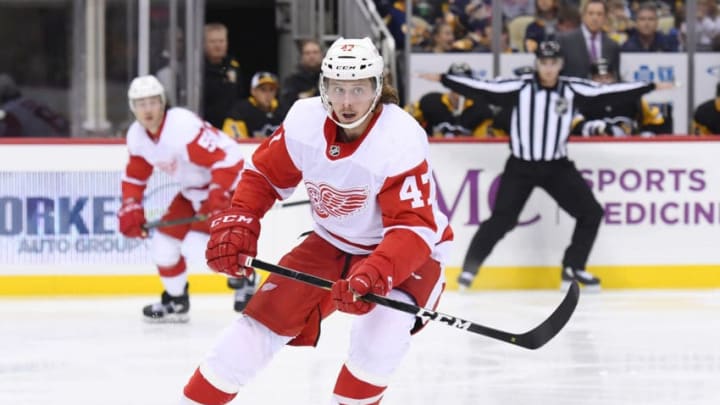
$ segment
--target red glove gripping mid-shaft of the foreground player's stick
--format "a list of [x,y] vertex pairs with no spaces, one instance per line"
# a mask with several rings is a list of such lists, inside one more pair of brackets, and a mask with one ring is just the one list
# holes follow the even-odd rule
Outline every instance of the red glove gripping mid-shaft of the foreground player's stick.
[[332,299],[335,307],[349,314],[363,315],[375,308],[374,303],[360,299],[368,293],[386,295],[392,289],[392,265],[380,256],[370,256],[356,263],[350,275],[333,284]]

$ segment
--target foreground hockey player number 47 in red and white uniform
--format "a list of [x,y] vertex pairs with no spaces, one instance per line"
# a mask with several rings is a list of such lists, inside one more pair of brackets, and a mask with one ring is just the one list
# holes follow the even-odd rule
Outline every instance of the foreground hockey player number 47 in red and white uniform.
[[208,265],[232,276],[251,269],[259,220],[301,182],[314,229],[280,264],[335,281],[325,291],[270,275],[185,386],[189,403],[225,404],[284,345],[315,345],[336,309],[358,315],[333,404],[379,404],[423,323],[358,300],[367,293],[435,307],[452,231],[435,205],[425,131],[383,84],[370,39],[338,39],[322,63],[320,97],[295,102],[254,153],[231,207],[214,215]]

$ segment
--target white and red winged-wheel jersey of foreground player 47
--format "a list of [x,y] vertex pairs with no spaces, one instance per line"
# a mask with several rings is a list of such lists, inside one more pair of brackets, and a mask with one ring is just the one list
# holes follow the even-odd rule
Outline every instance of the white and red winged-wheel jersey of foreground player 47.
[[315,232],[351,254],[369,254],[394,229],[410,230],[444,262],[452,231],[435,205],[425,131],[408,113],[385,104],[365,133],[336,142],[337,125],[319,97],[293,105],[255,152],[259,172],[282,198],[304,182]]

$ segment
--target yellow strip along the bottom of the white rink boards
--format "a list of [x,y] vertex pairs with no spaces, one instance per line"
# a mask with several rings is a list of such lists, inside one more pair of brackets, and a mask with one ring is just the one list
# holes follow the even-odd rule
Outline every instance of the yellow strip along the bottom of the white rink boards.
[[[693,266],[591,266],[588,271],[602,279],[603,289],[695,289],[720,288],[720,265]],[[266,272],[258,272],[261,278]],[[457,289],[458,267],[445,270],[448,290]],[[225,277],[190,274],[191,293],[226,293]],[[555,289],[560,268],[483,267],[473,290]],[[162,292],[160,278],[148,275],[7,275],[0,276],[0,296],[46,295],[145,295]]]

